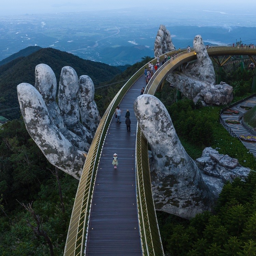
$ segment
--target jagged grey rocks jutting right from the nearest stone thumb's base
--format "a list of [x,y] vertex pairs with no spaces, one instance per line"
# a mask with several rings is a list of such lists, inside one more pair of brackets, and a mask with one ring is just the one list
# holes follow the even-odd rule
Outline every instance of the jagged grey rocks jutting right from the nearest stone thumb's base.
[[236,177],[243,180],[251,171],[250,168],[242,167],[236,158],[221,155],[211,147],[203,150],[202,156],[196,159],[196,164],[205,174],[224,182],[232,182]]

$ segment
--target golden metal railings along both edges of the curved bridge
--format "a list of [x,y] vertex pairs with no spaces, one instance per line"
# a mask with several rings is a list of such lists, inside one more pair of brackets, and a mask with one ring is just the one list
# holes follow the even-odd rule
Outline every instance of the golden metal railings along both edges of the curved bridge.
[[[231,51],[230,51],[230,48]],[[236,48],[236,49],[235,49]],[[209,56],[217,54],[226,54],[232,52],[236,55],[255,55],[256,49],[237,49],[233,46],[214,46],[207,49]],[[248,53],[247,53],[248,52]],[[254,54],[252,54],[254,53]],[[159,56],[160,61],[164,59],[164,55]],[[196,53],[193,48],[188,53],[185,48],[168,52],[167,55],[174,55],[170,60],[163,64],[154,74],[153,79],[148,83],[145,93],[154,95],[159,84],[165,79],[171,70],[180,66],[182,63],[196,59]],[[153,59],[151,63],[156,64],[157,59]],[[144,74],[145,67],[148,63],[139,69],[129,81],[119,90],[108,109],[103,115],[98,129],[95,133],[93,142],[91,143],[79,187],[77,189],[74,207],[71,215],[68,236],[65,246],[65,256],[82,256],[86,250],[86,239],[88,233],[88,223],[90,217],[91,200],[95,185],[96,174],[98,170],[102,147],[108,131],[111,119],[117,105],[122,100],[131,85]],[[163,255],[161,238],[157,225],[154,201],[152,197],[150,172],[148,167],[147,142],[145,137],[138,128],[136,143],[136,167],[137,167],[137,202],[138,202],[138,218],[140,225],[141,244],[143,255]]]

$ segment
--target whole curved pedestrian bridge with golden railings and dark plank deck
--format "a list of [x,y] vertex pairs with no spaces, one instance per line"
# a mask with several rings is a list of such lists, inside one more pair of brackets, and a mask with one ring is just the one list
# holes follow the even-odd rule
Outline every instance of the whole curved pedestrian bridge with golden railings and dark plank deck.
[[[232,45],[207,49],[209,56],[256,55],[256,49]],[[174,50],[173,57],[153,75],[145,93],[154,95],[167,75],[196,59],[193,49]],[[160,56],[160,61],[164,55]],[[151,61],[154,65],[156,59]],[[144,69],[138,70],[119,90],[103,115],[86,158],[75,197],[65,256],[163,256],[154,208],[147,141],[133,111],[133,102],[145,87]],[[115,109],[123,110],[121,124]],[[127,132],[125,113],[131,115]],[[113,154],[119,165],[114,169]]]

